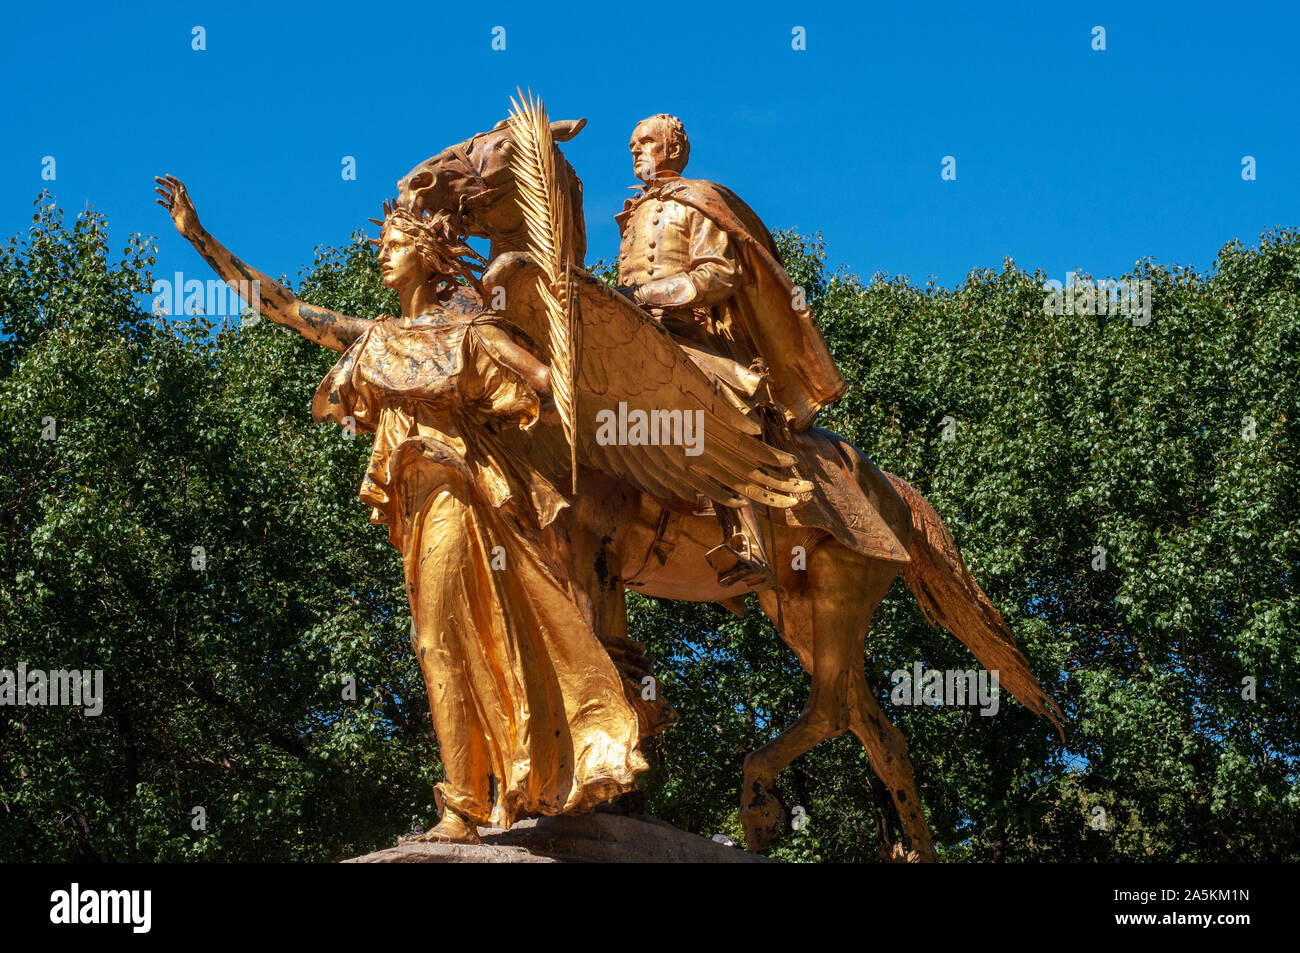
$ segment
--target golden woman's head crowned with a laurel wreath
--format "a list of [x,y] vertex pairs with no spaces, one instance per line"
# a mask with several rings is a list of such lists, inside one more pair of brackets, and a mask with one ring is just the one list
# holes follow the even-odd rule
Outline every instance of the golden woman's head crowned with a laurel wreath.
[[467,259],[478,255],[452,231],[446,212],[429,215],[384,203],[382,221],[370,221],[382,226],[380,238],[370,241],[380,246],[380,270],[387,287],[402,290],[411,283],[433,282],[450,294],[458,277],[477,282],[473,264]]

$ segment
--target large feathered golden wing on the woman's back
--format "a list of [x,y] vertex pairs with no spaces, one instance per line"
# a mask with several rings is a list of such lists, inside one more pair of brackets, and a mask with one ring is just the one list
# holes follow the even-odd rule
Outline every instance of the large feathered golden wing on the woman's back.
[[[526,252],[499,255],[482,277],[497,313],[547,352],[540,269]],[[576,390],[578,463],[621,477],[664,501],[702,494],[737,507],[746,501],[789,508],[812,485],[794,458],[762,439],[758,421],[736,406],[641,308],[586,273],[575,276],[581,348]]]

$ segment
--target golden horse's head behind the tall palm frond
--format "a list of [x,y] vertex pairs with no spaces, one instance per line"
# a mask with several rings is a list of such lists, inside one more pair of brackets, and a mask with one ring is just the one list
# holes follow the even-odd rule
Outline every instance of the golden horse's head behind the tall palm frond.
[[[556,120],[551,122],[551,138],[568,142],[585,125],[586,120]],[[510,168],[514,148],[510,120],[502,120],[491,130],[445,148],[403,176],[398,181],[398,203],[415,212],[450,212],[464,234],[491,239],[493,257],[503,251],[523,251],[524,213],[516,202],[515,174]],[[556,152],[555,169],[568,189],[573,209],[573,257],[582,264],[586,254],[582,182],[564,155],[558,148]]]

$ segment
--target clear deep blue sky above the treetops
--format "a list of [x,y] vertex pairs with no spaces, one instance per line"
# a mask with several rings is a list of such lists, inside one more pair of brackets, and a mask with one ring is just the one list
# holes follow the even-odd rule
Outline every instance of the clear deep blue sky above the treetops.
[[628,134],[672,112],[688,174],[774,229],[820,230],[863,276],[952,285],[1004,255],[1057,278],[1148,255],[1205,268],[1231,238],[1300,224],[1297,27],[1297,3],[10,4],[0,235],[49,185],[69,212],[105,212],[114,247],[159,235],[160,274],[207,278],[153,204],[169,172],[217,238],[296,277],[520,85],[589,120],[566,147],[589,260],[618,254]]

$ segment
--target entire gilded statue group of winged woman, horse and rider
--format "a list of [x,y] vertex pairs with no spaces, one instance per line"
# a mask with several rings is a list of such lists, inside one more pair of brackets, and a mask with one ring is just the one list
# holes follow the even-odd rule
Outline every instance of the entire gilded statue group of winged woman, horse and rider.
[[[1053,702],[935,510],[810,426],[844,382],[758,217],[681,178],[671,117],[633,135],[645,187],[620,216],[623,287],[584,270],[582,187],[556,146],[584,125],[521,98],[403,177],[378,239],[400,319],[296,300],[157,179],[224,280],[256,280],[268,317],[343,352],[313,415],[374,433],[361,499],[403,555],[447,776],[424,836],[472,842],[476,824],[630,790],[641,742],[673,714],[628,638],[627,589],[737,614],[757,593],[812,685],[745,761],[749,848],[786,827],[777,774],[852,731],[898,809],[905,842],[888,853],[933,859],[906,742],[863,671],[893,579],[1060,727]],[[490,239],[489,261],[467,235]]]

